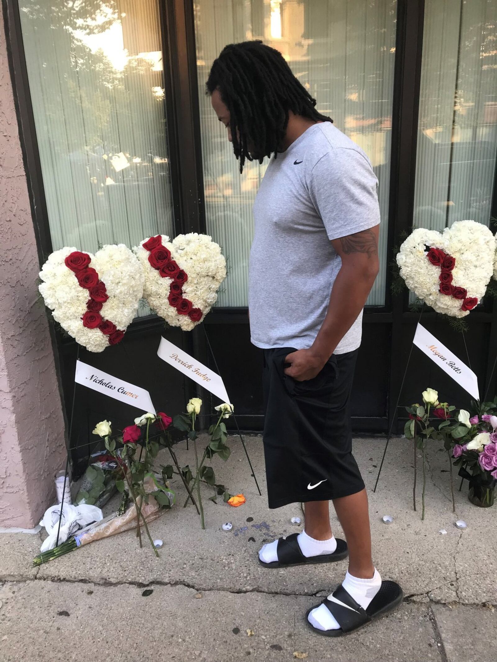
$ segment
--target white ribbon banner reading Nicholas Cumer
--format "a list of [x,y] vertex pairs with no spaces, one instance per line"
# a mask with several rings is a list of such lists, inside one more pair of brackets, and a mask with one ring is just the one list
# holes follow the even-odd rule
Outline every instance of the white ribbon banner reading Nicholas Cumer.
[[131,406],[144,412],[156,413],[148,391],[140,389],[139,386],[130,384],[129,381],[124,381],[124,379],[113,377],[113,375],[98,370],[92,365],[83,363],[83,361],[76,361],[74,381],[77,384],[93,389],[93,391],[108,395],[115,400],[131,404]]

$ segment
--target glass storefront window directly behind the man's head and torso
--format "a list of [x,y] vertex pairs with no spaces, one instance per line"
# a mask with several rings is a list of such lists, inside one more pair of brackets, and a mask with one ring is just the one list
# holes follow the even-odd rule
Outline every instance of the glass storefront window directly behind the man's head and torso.
[[368,154],[380,187],[380,275],[368,304],[385,300],[396,2],[376,0],[198,0],[194,3],[207,232],[223,246],[229,277],[221,306],[247,305],[252,203],[267,164],[239,175],[225,129],[205,95],[223,46],[262,39],[278,48],[319,112]]

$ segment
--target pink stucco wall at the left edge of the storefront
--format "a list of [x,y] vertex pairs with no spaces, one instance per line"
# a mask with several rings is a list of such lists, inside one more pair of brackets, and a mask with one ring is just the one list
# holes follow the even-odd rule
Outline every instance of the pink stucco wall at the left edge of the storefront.
[[64,418],[44,307],[0,12],[0,526],[32,528],[54,499]]

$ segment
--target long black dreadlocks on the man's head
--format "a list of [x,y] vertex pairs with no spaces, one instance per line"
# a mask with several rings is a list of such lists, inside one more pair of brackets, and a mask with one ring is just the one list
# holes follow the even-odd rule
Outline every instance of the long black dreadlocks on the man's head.
[[289,111],[311,120],[333,122],[317,112],[315,99],[294,76],[282,54],[259,40],[225,46],[213,62],[206,87],[208,94],[218,89],[229,110],[240,172],[246,159],[252,161],[248,144],[260,163],[264,156],[276,156]]

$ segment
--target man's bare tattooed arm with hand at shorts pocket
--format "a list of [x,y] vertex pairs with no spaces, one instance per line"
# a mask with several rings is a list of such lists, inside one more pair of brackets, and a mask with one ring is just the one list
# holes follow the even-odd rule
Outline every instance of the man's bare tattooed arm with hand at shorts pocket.
[[331,242],[342,265],[313,345],[286,357],[291,366],[285,373],[290,377],[298,381],[315,377],[359,316],[378,274],[378,232],[377,225]]

